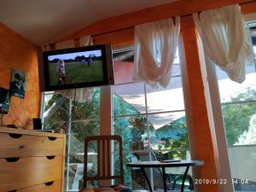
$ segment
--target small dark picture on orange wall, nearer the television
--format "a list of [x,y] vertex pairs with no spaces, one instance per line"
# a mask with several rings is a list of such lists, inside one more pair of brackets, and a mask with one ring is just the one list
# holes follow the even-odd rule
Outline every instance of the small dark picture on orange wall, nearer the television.
[[11,84],[10,84],[10,94],[11,96],[17,96],[20,98],[25,97],[26,90],[26,73],[20,71],[19,69],[12,69]]

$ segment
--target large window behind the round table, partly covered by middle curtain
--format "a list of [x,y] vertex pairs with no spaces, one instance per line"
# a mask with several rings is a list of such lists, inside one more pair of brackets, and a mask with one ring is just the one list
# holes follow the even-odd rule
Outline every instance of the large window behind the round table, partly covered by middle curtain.
[[[135,160],[137,153],[155,154],[157,159],[189,159],[188,131],[183,102],[181,64],[178,56],[172,67],[171,84],[152,89],[143,82],[131,82],[133,49],[113,54],[113,133],[123,137],[124,163]],[[125,185],[145,189],[141,172],[124,166]],[[183,171],[179,171],[183,172]],[[190,173],[191,174],[191,173]],[[163,184],[151,171],[154,188]],[[132,179],[131,179],[132,177]],[[154,179],[153,179],[154,178]],[[160,181],[162,182],[162,181]]]

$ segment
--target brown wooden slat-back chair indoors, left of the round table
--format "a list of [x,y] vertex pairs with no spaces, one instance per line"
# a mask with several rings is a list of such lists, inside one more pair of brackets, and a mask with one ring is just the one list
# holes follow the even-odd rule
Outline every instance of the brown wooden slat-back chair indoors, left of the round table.
[[[111,142],[115,141],[119,145],[119,172],[112,174],[111,169]],[[88,173],[88,149],[90,143],[96,143],[96,176]],[[117,168],[115,166],[115,168]],[[119,180],[118,185],[101,186],[102,180]],[[120,192],[131,192],[131,189],[126,188],[124,184],[124,171],[123,171],[123,146],[122,137],[120,136],[92,136],[85,137],[84,139],[84,188],[82,191],[88,191],[87,184],[89,181],[98,181],[99,186],[94,188],[95,191],[109,190]],[[91,191],[91,189],[90,189]]]

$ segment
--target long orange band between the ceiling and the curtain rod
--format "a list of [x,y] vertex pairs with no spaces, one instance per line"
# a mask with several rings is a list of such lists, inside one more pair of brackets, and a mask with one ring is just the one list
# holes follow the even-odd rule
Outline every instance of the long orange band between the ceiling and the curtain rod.
[[[108,18],[106,20],[100,20],[90,26],[84,27],[78,32],[68,35],[66,38],[61,38],[60,41],[66,41],[86,35],[115,32],[149,21],[162,20],[172,16],[190,15],[201,10],[216,9],[230,4],[248,2],[252,2],[252,0],[181,0],[175,3],[159,5],[153,8]],[[247,6],[249,6],[249,4],[247,4]],[[253,8],[250,9],[253,10]]]

